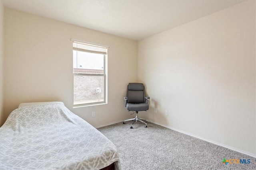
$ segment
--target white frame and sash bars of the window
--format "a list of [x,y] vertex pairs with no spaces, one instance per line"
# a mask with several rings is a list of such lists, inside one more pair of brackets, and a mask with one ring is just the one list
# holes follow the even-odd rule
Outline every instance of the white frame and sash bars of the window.
[[[72,39],[71,39],[72,40]],[[77,46],[74,47],[74,43],[76,44],[80,44],[80,45],[84,45],[84,46],[88,46],[89,48],[88,49],[80,49],[78,48]],[[82,106],[94,106],[94,105],[99,105],[99,104],[107,104],[107,99],[108,99],[108,96],[107,96],[107,49],[108,49],[108,46],[105,46],[105,45],[98,45],[98,44],[94,44],[94,43],[88,43],[88,42],[85,42],[85,41],[79,41],[79,40],[73,40],[72,42],[73,44],[73,48],[72,48],[72,51],[76,50],[78,51],[78,49],[80,49],[80,51],[84,51],[84,52],[87,52],[87,53],[98,53],[98,54],[102,54],[103,55],[103,59],[104,59],[104,73],[103,74],[82,74],[82,73],[74,73],[74,67],[73,67],[73,85],[74,85],[74,76],[75,75],[81,75],[81,76],[103,76],[104,78],[104,101],[102,102],[92,102],[92,103],[84,103],[84,104],[74,104],[74,94],[73,94],[73,107],[82,107]],[[77,56],[76,56],[77,57]],[[74,55],[73,55],[73,59],[74,59]],[[78,67],[76,67],[76,69],[78,70]],[[74,92],[74,87],[73,87],[73,92]]]

